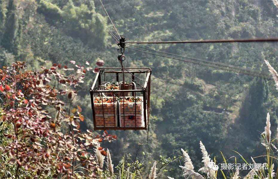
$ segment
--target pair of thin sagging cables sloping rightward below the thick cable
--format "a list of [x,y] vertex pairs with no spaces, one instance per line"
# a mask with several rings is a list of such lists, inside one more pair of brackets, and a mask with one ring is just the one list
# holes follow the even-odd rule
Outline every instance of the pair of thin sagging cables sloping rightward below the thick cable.
[[236,73],[246,74],[246,75],[250,75],[250,76],[257,76],[257,77],[263,77],[265,79],[271,79],[271,77],[268,73],[259,72],[259,71],[255,71],[255,70],[251,70],[251,69],[245,69],[245,68],[240,68],[240,67],[232,69],[229,66],[220,66],[220,65],[216,65],[216,64],[204,63],[203,61],[196,61],[196,60],[191,60],[191,59],[183,60],[183,59],[178,59],[178,58],[174,58],[174,57],[170,57],[170,56],[164,56],[164,55],[159,55],[156,53],[146,52],[146,51],[142,51],[142,50],[138,50],[138,49],[134,49],[134,48],[129,48],[129,47],[126,47],[126,48],[132,49],[132,50],[135,50],[138,52],[143,52],[143,53],[148,53],[151,55],[157,55],[157,56],[173,59],[173,60],[179,60],[179,61],[193,63],[193,64],[197,64],[197,65],[203,65],[203,66],[208,66],[208,67],[212,67],[212,68],[222,69],[222,70],[226,70],[226,71],[230,71],[230,72],[236,72]]

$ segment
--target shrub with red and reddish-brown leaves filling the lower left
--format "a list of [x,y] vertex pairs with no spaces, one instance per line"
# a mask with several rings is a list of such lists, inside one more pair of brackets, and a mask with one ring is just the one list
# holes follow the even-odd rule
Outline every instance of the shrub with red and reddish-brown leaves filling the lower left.
[[[75,73],[65,76],[68,70]],[[1,178],[97,177],[100,168],[88,149],[116,137],[79,130],[84,116],[72,102],[84,75],[79,65],[30,71],[18,61],[0,69]]]

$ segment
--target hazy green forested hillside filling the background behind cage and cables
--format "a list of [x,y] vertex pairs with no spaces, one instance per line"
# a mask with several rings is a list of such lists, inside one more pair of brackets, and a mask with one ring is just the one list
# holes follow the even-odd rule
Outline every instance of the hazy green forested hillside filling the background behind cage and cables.
[[[103,1],[120,35],[127,41],[243,39],[278,36],[278,9],[272,1]],[[0,67],[26,61],[29,69],[50,68],[97,60],[120,67],[116,41],[98,0],[0,0]],[[144,45],[141,45],[144,46]],[[188,57],[222,62],[267,72],[263,60],[278,69],[277,43],[148,44],[144,47]],[[273,128],[278,122],[277,91],[273,81],[183,63],[125,49],[125,67],[152,69],[151,117],[147,131],[109,131],[117,140],[106,144],[117,163],[124,154],[159,160],[187,150],[199,168],[201,140],[211,158],[259,156],[267,112]],[[70,71],[68,72],[70,73]],[[95,73],[86,73],[79,86],[82,130],[93,129],[89,88]],[[55,85],[55,84],[54,84]],[[146,162],[148,164],[148,162]],[[152,164],[150,164],[151,167]],[[181,178],[179,161],[159,178]]]

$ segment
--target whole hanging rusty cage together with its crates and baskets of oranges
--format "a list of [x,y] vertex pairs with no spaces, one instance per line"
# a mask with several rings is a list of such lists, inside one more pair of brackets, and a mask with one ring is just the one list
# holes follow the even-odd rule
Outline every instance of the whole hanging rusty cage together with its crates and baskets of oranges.
[[90,88],[94,130],[147,130],[150,77],[150,68],[99,68]]

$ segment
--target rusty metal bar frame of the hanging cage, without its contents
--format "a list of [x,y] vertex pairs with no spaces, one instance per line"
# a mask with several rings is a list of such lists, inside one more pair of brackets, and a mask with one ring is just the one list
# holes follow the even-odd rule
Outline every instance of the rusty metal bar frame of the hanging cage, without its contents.
[[[132,90],[101,90],[101,79],[102,75],[104,76],[104,81],[105,81],[105,74],[106,73],[116,73],[116,81],[119,81],[119,75],[122,73],[130,73],[132,74],[132,81],[135,81],[135,74],[137,73],[145,73],[146,74],[146,79],[144,86],[142,86],[141,90],[133,89]],[[93,111],[93,121],[94,121],[94,130],[147,130],[148,125],[149,125],[149,117],[150,117],[150,81],[151,81],[151,73],[152,70],[150,68],[125,68],[124,72],[121,71],[121,68],[99,68],[99,72],[96,74],[95,81],[90,88],[90,95],[91,95],[91,105],[92,105],[92,111]],[[122,76],[122,75],[120,75]],[[114,78],[114,77],[113,77]],[[103,82],[104,82],[103,81]],[[96,86],[97,85],[97,86]],[[120,127],[120,117],[119,113],[117,114],[117,118],[114,113],[114,119],[118,120],[118,126],[115,127],[105,127],[105,119],[104,119],[104,114],[103,114],[103,127],[96,127],[96,115],[95,115],[95,107],[94,107],[94,97],[100,97],[102,98],[103,93],[112,93],[113,98],[115,93],[118,94],[124,94],[125,93],[132,93],[132,96],[136,98],[136,93],[141,93],[143,95],[143,116],[144,116],[144,127],[136,127],[136,102],[135,102],[135,127]],[[98,96],[99,94],[99,96]],[[120,110],[120,107],[118,107]],[[102,109],[103,110],[103,109]],[[114,104],[114,110],[115,110],[115,104]],[[124,111],[124,102],[123,102],[123,111]],[[125,117],[124,117],[125,120]]]

